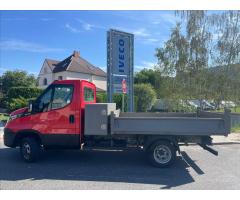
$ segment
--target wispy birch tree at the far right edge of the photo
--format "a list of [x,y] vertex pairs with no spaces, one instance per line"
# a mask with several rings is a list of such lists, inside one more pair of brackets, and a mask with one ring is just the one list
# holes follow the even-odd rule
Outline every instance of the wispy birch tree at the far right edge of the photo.
[[[225,11],[211,18],[215,40],[212,58],[215,66],[222,66],[217,73],[221,80],[218,102],[229,98],[239,101],[239,79],[232,80],[231,70],[240,63],[240,11]],[[238,71],[239,71],[238,67]],[[234,71],[234,70],[233,70]]]

